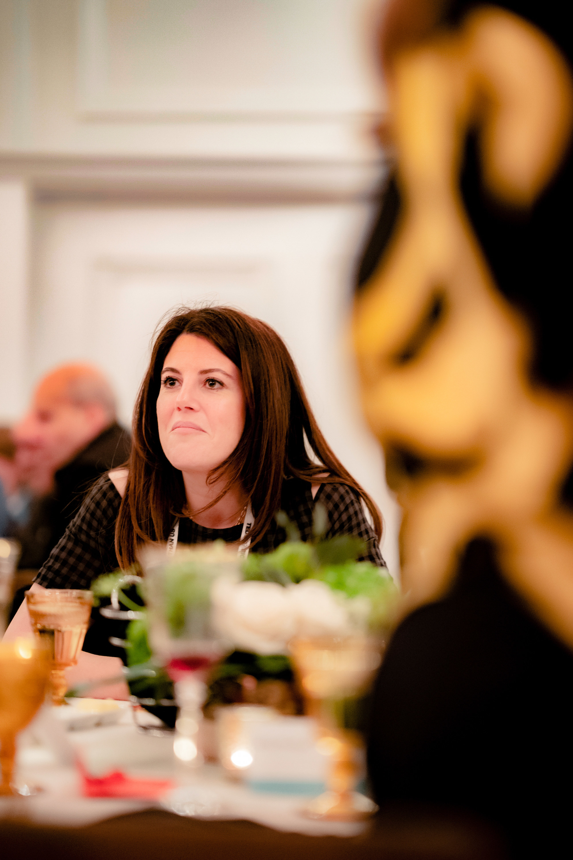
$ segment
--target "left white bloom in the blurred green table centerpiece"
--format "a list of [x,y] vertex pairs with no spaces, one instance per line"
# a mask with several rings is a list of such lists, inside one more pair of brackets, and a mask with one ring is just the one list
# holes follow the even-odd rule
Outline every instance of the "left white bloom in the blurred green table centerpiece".
[[211,590],[213,626],[236,648],[284,654],[296,633],[290,589],[275,582],[216,581]]

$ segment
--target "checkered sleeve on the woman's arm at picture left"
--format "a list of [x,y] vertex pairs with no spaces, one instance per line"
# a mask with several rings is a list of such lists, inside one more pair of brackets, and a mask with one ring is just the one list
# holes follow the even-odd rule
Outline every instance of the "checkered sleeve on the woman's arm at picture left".
[[88,589],[97,576],[119,568],[114,540],[120,504],[117,489],[102,476],[34,581],[45,588]]

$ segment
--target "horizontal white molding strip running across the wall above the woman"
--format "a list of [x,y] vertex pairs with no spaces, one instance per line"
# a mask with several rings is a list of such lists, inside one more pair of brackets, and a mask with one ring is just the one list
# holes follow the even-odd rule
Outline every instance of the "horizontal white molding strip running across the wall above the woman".
[[26,181],[40,200],[343,202],[375,196],[386,174],[383,155],[311,161],[0,153],[0,180]]

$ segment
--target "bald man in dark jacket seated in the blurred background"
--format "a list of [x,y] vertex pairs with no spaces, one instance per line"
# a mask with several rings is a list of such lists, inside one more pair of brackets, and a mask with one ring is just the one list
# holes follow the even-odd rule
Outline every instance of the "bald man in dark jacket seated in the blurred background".
[[40,568],[76,515],[90,485],[125,463],[131,439],[116,419],[107,378],[92,365],[62,365],[40,380],[13,430],[16,462],[38,494],[17,537],[20,568]]

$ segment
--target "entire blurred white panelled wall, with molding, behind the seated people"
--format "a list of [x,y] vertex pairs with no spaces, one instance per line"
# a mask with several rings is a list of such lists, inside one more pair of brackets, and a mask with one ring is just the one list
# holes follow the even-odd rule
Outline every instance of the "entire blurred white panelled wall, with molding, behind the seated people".
[[386,165],[373,0],[0,0],[0,421],[53,365],[125,424],[160,316],[233,304],[292,351],[320,426],[399,512],[346,343]]

